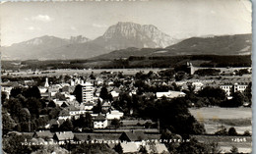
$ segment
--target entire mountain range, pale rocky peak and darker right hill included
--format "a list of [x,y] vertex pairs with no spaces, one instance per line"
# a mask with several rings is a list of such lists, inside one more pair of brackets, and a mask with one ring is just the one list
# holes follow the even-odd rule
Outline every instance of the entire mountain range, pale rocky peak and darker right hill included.
[[190,54],[244,55],[251,53],[252,35],[173,38],[157,26],[117,23],[91,40],[82,35],[70,39],[44,35],[1,47],[3,60],[113,59],[129,56]]

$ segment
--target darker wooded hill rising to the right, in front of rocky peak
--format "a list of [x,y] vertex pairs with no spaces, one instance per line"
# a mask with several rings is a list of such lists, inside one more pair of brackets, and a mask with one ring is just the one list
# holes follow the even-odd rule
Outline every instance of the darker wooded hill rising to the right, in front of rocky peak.
[[177,55],[250,55],[251,34],[236,34],[213,37],[192,37],[166,48],[127,48],[112,51],[93,59],[118,59],[130,56],[177,56]]

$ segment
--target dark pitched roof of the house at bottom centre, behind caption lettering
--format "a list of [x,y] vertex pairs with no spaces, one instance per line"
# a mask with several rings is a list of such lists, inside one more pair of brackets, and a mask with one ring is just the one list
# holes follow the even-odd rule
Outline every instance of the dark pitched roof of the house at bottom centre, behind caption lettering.
[[141,141],[146,138],[145,134],[143,131],[139,130],[131,130],[131,131],[124,131],[119,139],[123,141]]

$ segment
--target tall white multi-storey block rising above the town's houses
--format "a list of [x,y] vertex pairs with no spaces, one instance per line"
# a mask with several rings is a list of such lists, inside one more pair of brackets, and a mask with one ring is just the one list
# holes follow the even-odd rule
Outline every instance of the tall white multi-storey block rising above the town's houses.
[[82,84],[82,102],[94,102],[94,86],[91,82]]

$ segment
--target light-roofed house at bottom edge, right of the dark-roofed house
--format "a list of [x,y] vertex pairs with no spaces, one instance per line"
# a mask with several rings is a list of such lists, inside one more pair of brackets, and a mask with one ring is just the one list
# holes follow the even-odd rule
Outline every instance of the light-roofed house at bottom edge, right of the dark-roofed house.
[[168,149],[163,143],[147,144],[145,147],[148,153],[161,153],[161,154],[169,153]]

